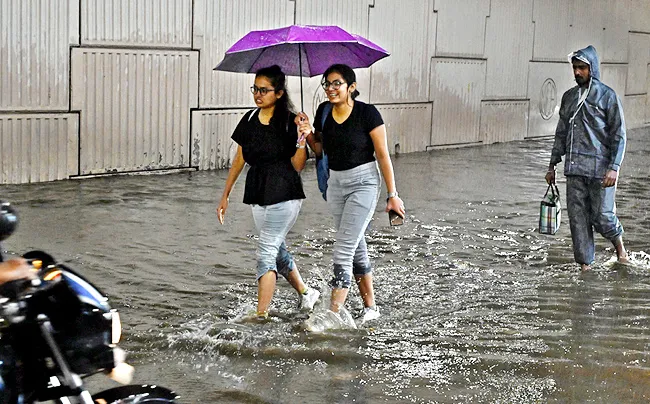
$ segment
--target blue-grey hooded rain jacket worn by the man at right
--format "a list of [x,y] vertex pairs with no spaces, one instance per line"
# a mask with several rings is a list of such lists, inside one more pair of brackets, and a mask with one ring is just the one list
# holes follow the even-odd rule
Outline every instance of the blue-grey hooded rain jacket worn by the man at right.
[[621,100],[600,82],[600,62],[589,45],[569,55],[589,63],[591,80],[587,98],[579,104],[579,86],[562,96],[560,121],[555,130],[551,164],[564,162],[564,175],[602,178],[618,171],[625,154],[625,119]]

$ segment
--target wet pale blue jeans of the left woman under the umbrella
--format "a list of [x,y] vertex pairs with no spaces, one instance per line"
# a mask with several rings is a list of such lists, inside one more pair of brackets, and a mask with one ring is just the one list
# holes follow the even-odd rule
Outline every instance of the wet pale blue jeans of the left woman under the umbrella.
[[257,243],[257,279],[268,271],[284,276],[296,267],[287,251],[285,238],[296,223],[302,199],[284,201],[268,206],[251,205],[253,220],[259,234]]

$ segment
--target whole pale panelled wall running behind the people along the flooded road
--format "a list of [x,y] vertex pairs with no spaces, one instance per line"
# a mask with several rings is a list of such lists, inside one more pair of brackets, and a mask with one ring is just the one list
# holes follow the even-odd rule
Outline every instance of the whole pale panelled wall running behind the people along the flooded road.
[[[566,55],[588,44],[628,127],[650,123],[649,0],[0,0],[0,184],[228,167],[253,77],[212,68],[291,24],[391,52],[357,70],[391,151],[552,135]],[[312,117],[319,81],[303,80]]]

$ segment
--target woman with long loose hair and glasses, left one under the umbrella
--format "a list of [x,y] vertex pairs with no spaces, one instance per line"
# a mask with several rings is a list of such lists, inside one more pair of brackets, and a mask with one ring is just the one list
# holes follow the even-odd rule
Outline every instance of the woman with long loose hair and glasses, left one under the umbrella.
[[243,116],[232,135],[238,144],[237,154],[217,207],[217,218],[223,224],[230,192],[248,163],[244,203],[251,205],[259,233],[258,318],[268,317],[278,273],[298,291],[301,310],[311,311],[320,295],[305,285],[285,243],[305,198],[299,173],[307,160],[305,139],[298,138],[285,83],[286,76],[278,66],[256,73],[251,92],[257,108]]

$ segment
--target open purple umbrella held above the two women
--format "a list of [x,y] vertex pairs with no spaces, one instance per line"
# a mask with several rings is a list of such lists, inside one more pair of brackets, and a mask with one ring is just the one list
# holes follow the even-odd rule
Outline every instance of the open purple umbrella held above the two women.
[[369,67],[388,55],[369,40],[335,25],[291,25],[249,32],[226,51],[214,70],[254,73],[278,65],[286,74],[301,77],[302,109],[302,76],[323,74],[334,63],[345,63],[352,68]]

